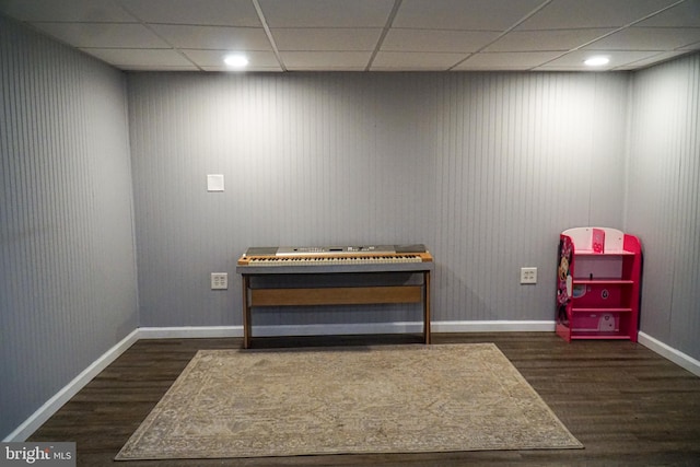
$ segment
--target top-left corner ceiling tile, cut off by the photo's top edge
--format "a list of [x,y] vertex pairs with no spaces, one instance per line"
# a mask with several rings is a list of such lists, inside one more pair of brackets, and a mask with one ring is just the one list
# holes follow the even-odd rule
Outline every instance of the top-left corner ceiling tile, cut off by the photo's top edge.
[[136,23],[113,0],[0,0],[0,9],[22,21]]

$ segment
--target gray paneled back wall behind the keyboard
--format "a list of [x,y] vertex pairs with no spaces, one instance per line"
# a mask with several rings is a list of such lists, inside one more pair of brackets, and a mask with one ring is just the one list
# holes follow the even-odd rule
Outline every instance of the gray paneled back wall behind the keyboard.
[[[556,247],[621,227],[627,73],[129,74],[141,324],[238,325],[253,245],[424,242],[434,320],[552,320]],[[206,175],[223,174],[224,192]],[[520,267],[539,268],[520,285]],[[226,292],[209,273],[231,275]],[[265,324],[390,322],[308,311]]]

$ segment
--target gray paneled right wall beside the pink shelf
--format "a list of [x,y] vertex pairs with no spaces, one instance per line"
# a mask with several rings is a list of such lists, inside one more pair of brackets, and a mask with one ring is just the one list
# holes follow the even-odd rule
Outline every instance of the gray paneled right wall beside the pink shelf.
[[626,224],[644,247],[641,329],[700,360],[700,55],[633,80]]

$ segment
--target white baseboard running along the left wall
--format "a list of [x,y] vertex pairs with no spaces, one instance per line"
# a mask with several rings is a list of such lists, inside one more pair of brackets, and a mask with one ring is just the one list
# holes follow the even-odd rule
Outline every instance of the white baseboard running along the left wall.
[[88,383],[92,381],[101,371],[106,369],[112,362],[114,362],[120,354],[122,354],[129,347],[139,340],[139,330],[135,329],[127,337],[121,339],[118,343],[107,350],[102,357],[95,360],[90,366],[83,370],[78,376],[75,376],[70,383],[48,399],[42,407],[38,408],[32,416],[26,419],[20,427],[18,427],[12,433],[10,433],[3,442],[23,442],[32,433],[34,433],[40,425],[43,425],[54,413],[60,409],[63,404],[70,400],[80,389],[82,389]]

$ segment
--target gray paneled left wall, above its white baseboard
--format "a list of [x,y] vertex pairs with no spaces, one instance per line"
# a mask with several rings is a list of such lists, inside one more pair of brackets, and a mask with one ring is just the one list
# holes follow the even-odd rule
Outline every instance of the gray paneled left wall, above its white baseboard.
[[138,325],[121,73],[0,16],[0,437]]

